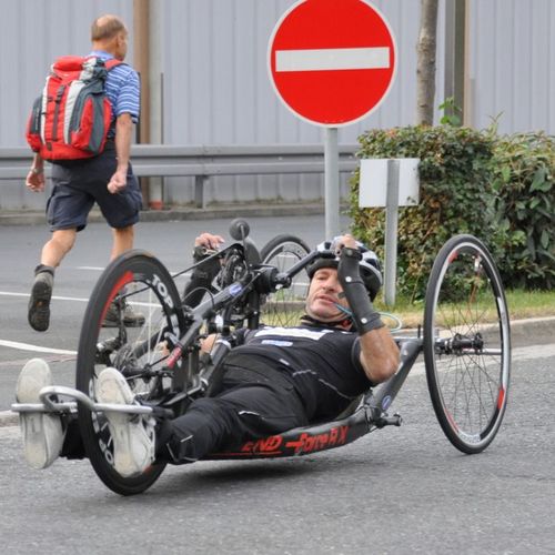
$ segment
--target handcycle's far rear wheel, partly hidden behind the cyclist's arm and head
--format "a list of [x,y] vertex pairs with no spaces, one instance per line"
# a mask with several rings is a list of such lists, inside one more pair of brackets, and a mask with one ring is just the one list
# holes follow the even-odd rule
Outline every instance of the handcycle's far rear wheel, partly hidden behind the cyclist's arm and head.
[[[310,246],[302,239],[283,233],[271,239],[260,253],[263,264],[273,265],[279,272],[284,272],[306,256],[310,251]],[[309,275],[303,270],[293,278],[287,289],[269,294],[262,306],[263,323],[278,326],[296,325],[304,314],[309,284]]]

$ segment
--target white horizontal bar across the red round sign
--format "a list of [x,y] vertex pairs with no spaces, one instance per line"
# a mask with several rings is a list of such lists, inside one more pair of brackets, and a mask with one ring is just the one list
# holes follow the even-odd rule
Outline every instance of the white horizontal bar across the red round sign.
[[275,71],[387,69],[390,48],[329,48],[276,50]]

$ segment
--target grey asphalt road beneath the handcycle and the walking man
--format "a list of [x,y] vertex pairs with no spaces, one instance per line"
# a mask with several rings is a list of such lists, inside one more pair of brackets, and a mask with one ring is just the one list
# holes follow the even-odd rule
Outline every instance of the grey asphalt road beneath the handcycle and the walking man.
[[[144,223],[137,246],[180,270],[198,232],[225,233],[228,223]],[[324,232],[323,216],[251,225],[261,245],[284,232],[315,244]],[[26,306],[47,232],[4,226],[0,234],[2,411],[31,356],[50,361],[57,383],[73,384],[81,314],[111,239],[102,224],[81,234],[57,275],[52,327],[40,334]],[[553,554],[554,361],[554,344],[515,350],[505,421],[481,455],[463,455],[443,436],[418,363],[393,407],[404,417],[400,428],[299,458],[169,467],[132,498],[108,491],[87,461],[28,468],[19,430],[0,427],[1,552]]]

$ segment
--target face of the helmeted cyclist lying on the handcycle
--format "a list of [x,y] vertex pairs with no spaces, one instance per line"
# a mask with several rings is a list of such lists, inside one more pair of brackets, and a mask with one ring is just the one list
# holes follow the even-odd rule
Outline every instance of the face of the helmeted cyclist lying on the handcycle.
[[345,316],[337,305],[349,307],[337,279],[337,270],[333,268],[316,270],[309,287],[306,313],[322,322],[333,322]]

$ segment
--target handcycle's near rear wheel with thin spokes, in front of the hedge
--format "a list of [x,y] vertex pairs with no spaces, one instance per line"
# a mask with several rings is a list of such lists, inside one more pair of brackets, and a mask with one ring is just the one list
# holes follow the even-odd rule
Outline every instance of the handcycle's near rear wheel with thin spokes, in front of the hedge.
[[443,432],[463,453],[480,453],[505,413],[511,332],[500,273],[472,235],[448,240],[434,261],[425,296],[424,361]]

